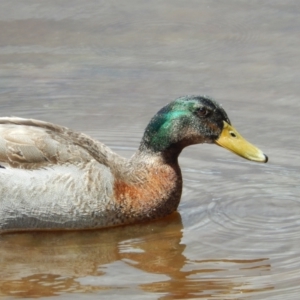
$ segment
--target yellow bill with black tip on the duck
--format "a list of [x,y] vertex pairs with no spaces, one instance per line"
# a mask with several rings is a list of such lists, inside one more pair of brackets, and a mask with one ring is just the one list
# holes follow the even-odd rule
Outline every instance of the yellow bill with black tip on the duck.
[[233,126],[223,122],[224,128],[220,137],[215,141],[216,144],[249,160],[264,163],[268,161],[268,157],[261,150],[247,142]]

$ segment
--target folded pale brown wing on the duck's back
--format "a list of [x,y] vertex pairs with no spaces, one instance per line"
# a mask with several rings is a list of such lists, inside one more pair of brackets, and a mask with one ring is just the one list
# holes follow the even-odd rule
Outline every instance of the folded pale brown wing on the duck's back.
[[52,123],[0,118],[0,166],[40,169],[51,165],[86,164],[95,159],[109,166],[122,158],[91,137]]

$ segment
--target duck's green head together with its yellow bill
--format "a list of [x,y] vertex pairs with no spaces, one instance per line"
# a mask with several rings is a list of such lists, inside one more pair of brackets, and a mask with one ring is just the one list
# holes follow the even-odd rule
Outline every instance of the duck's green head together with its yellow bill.
[[148,124],[139,150],[178,156],[184,147],[199,143],[215,143],[246,159],[268,161],[231,125],[222,106],[207,96],[186,96],[163,107]]

